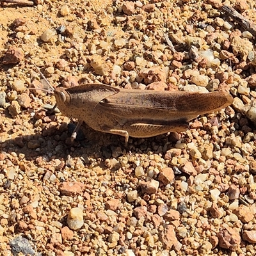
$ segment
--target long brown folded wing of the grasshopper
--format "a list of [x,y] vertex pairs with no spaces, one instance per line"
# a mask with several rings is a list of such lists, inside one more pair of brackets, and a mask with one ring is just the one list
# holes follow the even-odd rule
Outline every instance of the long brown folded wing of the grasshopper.
[[99,105],[108,113],[126,120],[191,120],[198,115],[218,111],[232,104],[226,92],[156,92],[120,90]]

